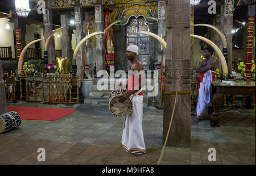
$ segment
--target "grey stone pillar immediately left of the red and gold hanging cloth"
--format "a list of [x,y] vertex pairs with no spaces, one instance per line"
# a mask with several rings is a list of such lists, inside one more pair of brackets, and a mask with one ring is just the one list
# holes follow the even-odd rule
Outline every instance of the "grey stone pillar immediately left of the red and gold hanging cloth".
[[[103,9],[102,6],[95,7],[95,24],[96,32],[102,32],[103,30]],[[96,35],[96,74],[100,70],[105,70],[105,55],[104,55],[104,38],[103,35]]]

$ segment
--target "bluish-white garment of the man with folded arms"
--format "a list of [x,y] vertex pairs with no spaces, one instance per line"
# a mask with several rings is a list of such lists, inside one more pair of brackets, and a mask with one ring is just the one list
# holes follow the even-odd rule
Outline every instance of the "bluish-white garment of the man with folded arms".
[[203,114],[205,106],[212,106],[212,72],[212,70],[205,72],[203,82],[200,83],[196,104],[196,115],[199,117]]

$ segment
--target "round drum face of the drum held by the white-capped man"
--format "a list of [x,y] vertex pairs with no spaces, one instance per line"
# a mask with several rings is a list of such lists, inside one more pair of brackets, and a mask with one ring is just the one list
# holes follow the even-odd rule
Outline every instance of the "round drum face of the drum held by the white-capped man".
[[130,98],[119,102],[119,95],[115,95],[109,102],[109,110],[113,115],[122,118],[133,112],[133,103]]

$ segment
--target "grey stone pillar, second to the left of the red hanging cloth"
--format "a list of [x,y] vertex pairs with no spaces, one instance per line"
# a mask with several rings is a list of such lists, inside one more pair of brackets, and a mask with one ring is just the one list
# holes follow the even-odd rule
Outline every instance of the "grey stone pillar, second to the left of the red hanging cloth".
[[[81,10],[82,9],[80,9],[80,7],[75,8],[76,45],[78,45],[79,42],[85,37],[84,28],[81,23],[81,16],[83,16]],[[82,73],[82,68],[84,66],[85,44],[86,42],[81,46],[76,56],[77,74],[79,74],[79,78],[81,78],[82,74],[84,74]]]

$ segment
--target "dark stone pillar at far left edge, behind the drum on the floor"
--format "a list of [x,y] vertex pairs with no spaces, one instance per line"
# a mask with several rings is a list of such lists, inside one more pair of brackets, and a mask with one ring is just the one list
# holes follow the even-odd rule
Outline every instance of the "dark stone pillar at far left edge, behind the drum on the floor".
[[0,115],[7,112],[5,81],[3,81],[2,60],[0,60]]

